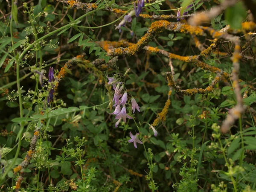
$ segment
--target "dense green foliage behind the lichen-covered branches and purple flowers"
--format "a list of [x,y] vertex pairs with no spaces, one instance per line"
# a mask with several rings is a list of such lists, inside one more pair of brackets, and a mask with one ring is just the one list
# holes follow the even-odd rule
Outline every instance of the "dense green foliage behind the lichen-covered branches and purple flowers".
[[[230,24],[231,33],[241,40],[239,78],[243,80],[241,94],[247,92],[243,100],[246,112],[228,133],[222,134],[221,123],[236,105],[230,79],[218,82],[205,94],[186,96],[172,90],[166,121],[155,127],[157,137],[148,124],[153,123],[168,99],[169,58],[141,50],[132,56],[119,56],[107,70],[93,65],[93,61],[105,64],[112,59],[100,41],[125,39],[137,43],[154,20],[133,16],[119,33],[115,27],[125,15],[105,8],[131,12],[133,2],[83,3],[96,3],[98,7],[85,12],[71,9],[64,1],[0,0],[1,190],[256,191],[255,33],[252,31],[249,38],[248,32],[240,30],[241,23],[252,17],[243,2],[228,7],[203,25],[221,30]],[[143,13],[176,15],[177,8],[192,4],[189,14],[194,14],[219,3],[149,1],[145,2]],[[186,19],[180,22],[185,23]],[[212,38],[198,39],[207,48]],[[216,52],[202,60],[231,74],[234,44],[221,41]],[[180,32],[163,31],[149,45],[183,56],[201,52],[192,35]],[[76,58],[83,53],[86,53],[83,59]],[[49,85],[49,67],[54,67],[56,80],[68,61],[72,67],[62,68],[67,73],[65,77]],[[172,65],[174,80],[182,89],[205,88],[216,76],[193,63],[172,59]],[[45,70],[44,84],[58,87],[49,106],[46,102],[49,88],[40,86],[40,76],[35,70],[41,73]],[[134,119],[121,122],[117,128],[115,116],[110,114],[114,90],[107,75],[122,81],[129,99],[133,96],[140,106],[140,113],[133,114],[131,105],[127,105]],[[15,172],[27,158],[36,131],[39,132],[32,159],[27,167]],[[133,143],[128,143],[130,131],[140,132],[144,144],[134,148]],[[17,183],[20,189],[15,189]]]

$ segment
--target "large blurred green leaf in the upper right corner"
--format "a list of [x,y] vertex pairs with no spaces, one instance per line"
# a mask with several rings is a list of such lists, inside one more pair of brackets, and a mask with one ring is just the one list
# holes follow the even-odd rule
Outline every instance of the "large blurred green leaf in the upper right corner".
[[225,11],[225,17],[230,28],[241,29],[241,23],[247,17],[247,12],[244,3],[239,1],[235,6],[228,7]]

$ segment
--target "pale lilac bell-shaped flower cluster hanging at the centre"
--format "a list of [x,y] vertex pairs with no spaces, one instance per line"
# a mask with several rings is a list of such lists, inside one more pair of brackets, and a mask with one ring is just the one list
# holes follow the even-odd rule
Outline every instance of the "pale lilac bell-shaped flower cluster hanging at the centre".
[[[113,89],[115,90],[113,96],[113,106],[115,106],[115,111],[111,114],[116,115],[115,119],[118,119],[115,124],[115,127],[117,127],[121,120],[126,122],[127,118],[132,119],[132,117],[127,114],[125,107],[125,105],[128,104],[128,94],[127,91],[125,91],[125,93],[122,93],[124,89],[124,84],[119,82],[115,77],[108,77],[108,84],[111,84],[113,86]],[[134,98],[131,98],[131,108],[133,110],[133,113],[135,112],[135,109],[140,112],[140,107]]]

